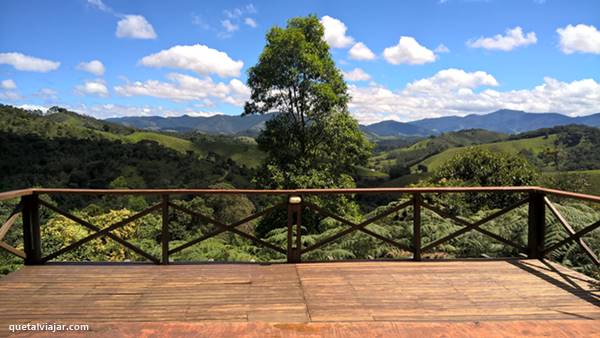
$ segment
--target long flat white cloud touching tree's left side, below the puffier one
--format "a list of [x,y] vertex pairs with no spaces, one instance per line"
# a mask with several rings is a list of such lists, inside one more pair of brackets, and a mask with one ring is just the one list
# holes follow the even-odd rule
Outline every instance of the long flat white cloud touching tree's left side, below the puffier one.
[[229,83],[215,83],[208,76],[196,78],[179,73],[170,73],[167,79],[170,82],[136,81],[115,86],[114,89],[121,96],[151,96],[175,102],[205,102],[206,99],[216,98],[235,106],[242,106],[250,97],[250,89],[238,79],[232,79]]

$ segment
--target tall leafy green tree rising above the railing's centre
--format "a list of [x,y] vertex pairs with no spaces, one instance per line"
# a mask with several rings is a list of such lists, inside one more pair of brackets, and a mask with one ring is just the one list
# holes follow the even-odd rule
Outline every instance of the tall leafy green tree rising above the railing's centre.
[[348,113],[350,99],[316,16],[273,27],[248,72],[244,114],[277,112],[258,137],[267,153],[263,184],[274,188],[352,186],[371,145]]

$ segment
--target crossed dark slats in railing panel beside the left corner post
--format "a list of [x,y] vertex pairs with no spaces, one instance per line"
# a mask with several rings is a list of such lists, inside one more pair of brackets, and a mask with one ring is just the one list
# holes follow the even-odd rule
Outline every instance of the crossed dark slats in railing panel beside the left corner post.
[[85,242],[88,242],[88,241],[90,241],[90,240],[92,240],[94,238],[97,238],[99,236],[104,235],[104,236],[107,236],[107,237],[111,238],[114,241],[117,241],[121,245],[123,245],[123,246],[131,249],[132,251],[136,252],[140,256],[143,256],[144,258],[146,258],[146,259],[148,259],[148,260],[150,260],[150,261],[152,261],[152,262],[154,262],[156,264],[160,263],[160,260],[157,259],[156,257],[148,254],[144,250],[142,250],[142,249],[138,248],[137,246],[135,246],[135,245],[127,242],[126,240],[124,240],[121,237],[119,237],[119,236],[111,233],[110,231],[112,231],[112,230],[114,230],[116,228],[119,228],[119,227],[121,227],[121,226],[123,226],[123,225],[125,225],[125,224],[127,224],[129,222],[132,222],[132,221],[134,221],[134,220],[136,220],[136,219],[138,219],[140,217],[143,217],[143,216],[151,213],[154,210],[159,209],[162,206],[162,204],[157,204],[155,206],[152,206],[152,207],[150,207],[150,208],[148,208],[148,209],[146,209],[146,210],[144,210],[144,211],[142,211],[142,212],[140,212],[138,214],[135,214],[135,215],[133,215],[133,216],[131,216],[131,217],[129,217],[129,218],[121,221],[121,222],[115,223],[115,224],[113,224],[113,225],[111,225],[111,226],[109,226],[107,228],[104,228],[104,229],[101,229],[101,228],[99,228],[99,227],[97,227],[97,226],[95,226],[95,225],[93,225],[93,224],[91,224],[91,223],[89,223],[87,221],[84,221],[83,219],[81,219],[81,218],[79,218],[79,217],[77,217],[75,215],[71,215],[70,213],[68,213],[68,212],[66,212],[64,210],[61,210],[61,209],[53,206],[50,203],[47,203],[47,202],[43,201],[43,200],[40,200],[40,204],[43,205],[43,206],[45,206],[45,207],[47,207],[48,209],[50,209],[50,210],[58,213],[58,214],[60,214],[60,215],[65,216],[66,218],[68,218],[68,219],[70,219],[70,220],[72,220],[72,221],[74,221],[76,223],[79,223],[79,224],[85,226],[88,229],[96,231],[92,235],[90,235],[90,236],[88,236],[86,238],[83,238],[83,239],[81,239],[81,240],[79,240],[79,241],[77,241],[77,242],[75,242],[75,243],[73,243],[73,244],[71,244],[71,245],[69,245],[67,247],[64,247],[64,248],[60,249],[59,251],[57,251],[55,253],[52,253],[52,254],[50,254],[50,255],[42,258],[43,262],[47,262],[47,261],[49,261],[51,259],[54,259],[54,258],[56,258],[56,257],[64,254],[65,252],[67,252],[69,250],[72,250],[72,249],[74,249],[75,247],[77,247],[79,245],[84,244]]

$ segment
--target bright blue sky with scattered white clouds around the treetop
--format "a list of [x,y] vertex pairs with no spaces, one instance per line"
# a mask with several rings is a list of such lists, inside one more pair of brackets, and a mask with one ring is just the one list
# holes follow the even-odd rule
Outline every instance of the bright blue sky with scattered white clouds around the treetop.
[[265,33],[316,14],[363,123],[600,112],[600,1],[2,1],[0,102],[239,114]]

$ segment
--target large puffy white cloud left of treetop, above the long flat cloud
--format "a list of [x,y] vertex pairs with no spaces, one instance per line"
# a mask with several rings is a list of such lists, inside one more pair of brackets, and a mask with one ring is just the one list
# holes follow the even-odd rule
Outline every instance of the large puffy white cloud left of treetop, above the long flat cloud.
[[140,64],[147,67],[170,67],[193,70],[202,75],[239,76],[242,61],[232,60],[227,53],[205,45],[174,46],[145,56]]

